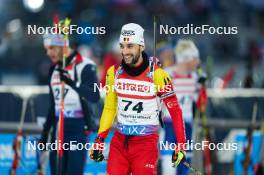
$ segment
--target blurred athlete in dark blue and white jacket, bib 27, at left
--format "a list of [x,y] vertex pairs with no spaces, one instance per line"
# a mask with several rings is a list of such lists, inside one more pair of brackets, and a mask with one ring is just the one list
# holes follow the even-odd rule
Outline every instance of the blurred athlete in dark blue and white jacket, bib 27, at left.
[[[49,71],[49,112],[44,124],[40,143],[46,143],[48,134],[51,133],[51,142],[56,140],[57,123],[60,113],[61,85],[64,88],[64,143],[76,141],[86,143],[86,130],[92,130],[91,113],[87,102],[97,102],[100,98],[99,91],[94,91],[97,83],[96,65],[88,58],[82,57],[77,51],[69,47],[66,67],[62,68],[63,35],[45,34],[44,47],[53,65]],[[64,150],[63,175],[83,175],[86,160],[86,150]],[[56,174],[56,150],[50,150],[51,174]]]

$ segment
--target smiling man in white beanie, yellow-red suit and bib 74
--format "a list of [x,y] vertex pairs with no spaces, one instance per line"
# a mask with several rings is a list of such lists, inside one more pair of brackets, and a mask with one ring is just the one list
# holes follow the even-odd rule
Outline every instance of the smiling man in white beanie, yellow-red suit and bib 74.
[[[95,146],[90,158],[103,161],[103,144],[116,120],[107,160],[109,175],[157,174],[160,101],[168,108],[178,147],[172,162],[184,160],[185,130],[171,78],[144,52],[144,29],[135,23],[122,27],[122,62],[107,71],[107,92]],[[113,88],[111,88],[113,87]]]

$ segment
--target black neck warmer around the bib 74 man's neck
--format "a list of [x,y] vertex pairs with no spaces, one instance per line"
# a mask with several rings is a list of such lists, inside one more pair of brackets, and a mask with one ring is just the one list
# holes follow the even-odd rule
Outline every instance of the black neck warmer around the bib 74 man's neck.
[[144,72],[149,66],[148,56],[145,52],[142,52],[143,62],[137,67],[128,66],[125,61],[122,60],[121,65],[124,71],[130,76],[138,76]]

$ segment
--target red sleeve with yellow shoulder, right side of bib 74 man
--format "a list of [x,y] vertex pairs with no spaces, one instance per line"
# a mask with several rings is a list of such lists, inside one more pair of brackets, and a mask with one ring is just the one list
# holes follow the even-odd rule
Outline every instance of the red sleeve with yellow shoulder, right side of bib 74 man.
[[174,133],[179,145],[178,148],[184,149],[183,146],[184,143],[186,143],[186,136],[182,110],[173,90],[171,78],[164,70],[157,68],[154,72],[154,83],[157,88],[157,95],[161,98],[170,113],[173,122]]

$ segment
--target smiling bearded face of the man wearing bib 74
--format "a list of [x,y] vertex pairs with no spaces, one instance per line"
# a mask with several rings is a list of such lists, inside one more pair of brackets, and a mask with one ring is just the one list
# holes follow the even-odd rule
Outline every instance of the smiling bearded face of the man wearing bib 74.
[[131,43],[120,43],[120,51],[125,63],[135,66],[139,63],[144,46]]

